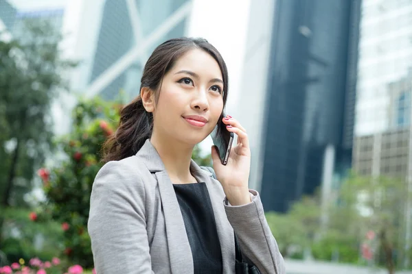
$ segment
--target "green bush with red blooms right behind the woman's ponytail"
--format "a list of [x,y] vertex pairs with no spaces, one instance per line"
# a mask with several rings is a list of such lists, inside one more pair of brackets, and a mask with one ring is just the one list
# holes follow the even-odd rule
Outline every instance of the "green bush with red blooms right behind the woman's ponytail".
[[[65,157],[51,169],[38,171],[47,202],[28,216],[33,222],[60,222],[64,234],[62,253],[69,262],[87,268],[93,267],[87,233],[91,186],[102,166],[102,143],[113,134],[119,121],[120,107],[118,103],[98,98],[78,103],[73,110],[71,133],[56,144],[65,152]],[[79,267],[71,266],[69,271],[75,273]]]

